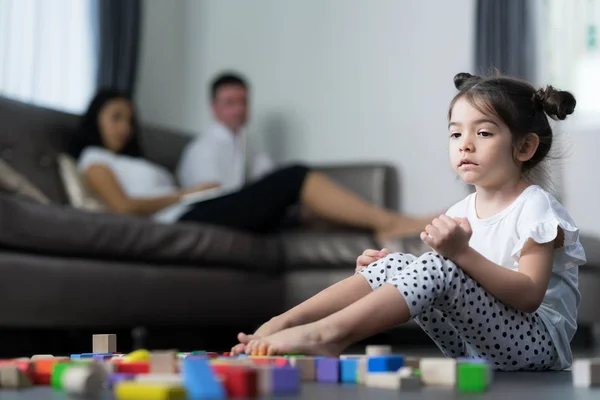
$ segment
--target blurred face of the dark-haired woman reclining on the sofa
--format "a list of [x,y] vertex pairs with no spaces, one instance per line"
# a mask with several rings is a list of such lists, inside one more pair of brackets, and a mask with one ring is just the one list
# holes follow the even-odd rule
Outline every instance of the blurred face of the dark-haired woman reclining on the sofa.
[[98,114],[98,129],[104,146],[115,153],[127,145],[133,133],[133,110],[129,100],[109,100]]

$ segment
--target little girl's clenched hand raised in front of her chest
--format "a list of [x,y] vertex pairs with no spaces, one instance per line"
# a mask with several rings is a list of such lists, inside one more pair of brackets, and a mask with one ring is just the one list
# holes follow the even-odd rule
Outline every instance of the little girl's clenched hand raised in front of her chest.
[[425,227],[425,232],[421,232],[421,240],[440,255],[454,259],[469,247],[472,234],[466,218],[451,218],[442,214]]

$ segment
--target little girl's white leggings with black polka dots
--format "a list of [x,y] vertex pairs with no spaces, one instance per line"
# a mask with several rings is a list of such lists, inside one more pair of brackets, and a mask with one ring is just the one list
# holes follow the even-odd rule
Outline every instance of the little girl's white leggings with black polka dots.
[[548,369],[557,357],[537,313],[496,300],[439,254],[393,253],[357,273],[373,290],[398,288],[415,322],[448,357],[484,358],[504,371]]

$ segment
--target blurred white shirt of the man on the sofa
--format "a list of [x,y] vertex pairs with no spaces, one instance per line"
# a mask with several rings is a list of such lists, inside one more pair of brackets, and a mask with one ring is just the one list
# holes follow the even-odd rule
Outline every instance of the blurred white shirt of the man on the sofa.
[[183,150],[177,179],[183,187],[220,183],[224,191],[239,190],[274,168],[271,158],[246,141],[246,133],[231,132],[215,122]]

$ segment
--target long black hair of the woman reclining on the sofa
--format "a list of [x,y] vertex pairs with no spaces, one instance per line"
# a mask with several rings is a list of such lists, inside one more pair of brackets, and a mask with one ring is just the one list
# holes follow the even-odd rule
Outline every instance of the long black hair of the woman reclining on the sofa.
[[[104,147],[104,144],[102,143],[102,136],[100,135],[100,127],[98,126],[98,115],[106,103],[115,99],[127,100],[131,104],[131,107],[134,108],[133,101],[128,94],[113,89],[99,90],[90,102],[87,111],[81,118],[79,128],[77,132],[75,132],[71,142],[69,152],[74,158],[77,159],[86,147]],[[139,130],[135,109],[133,111],[131,129],[131,139],[120,153],[132,157],[140,157],[142,152],[139,143]]]

